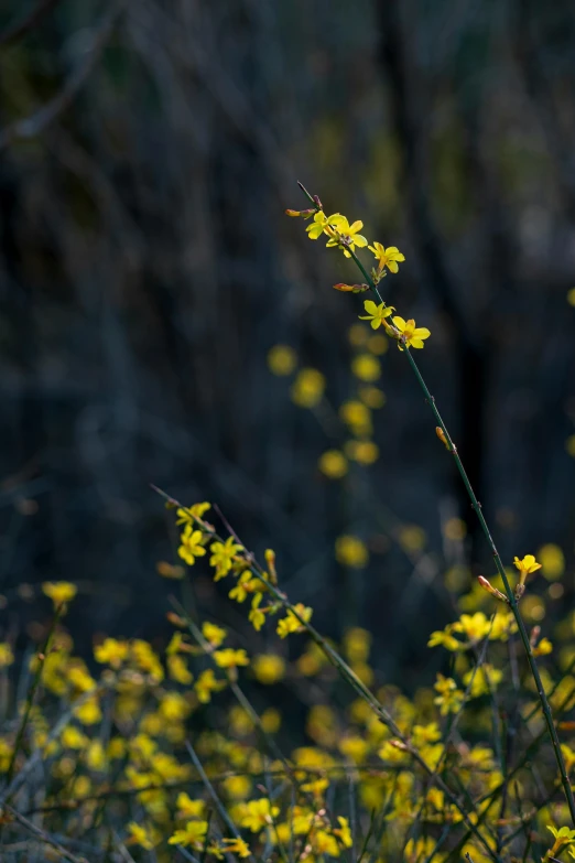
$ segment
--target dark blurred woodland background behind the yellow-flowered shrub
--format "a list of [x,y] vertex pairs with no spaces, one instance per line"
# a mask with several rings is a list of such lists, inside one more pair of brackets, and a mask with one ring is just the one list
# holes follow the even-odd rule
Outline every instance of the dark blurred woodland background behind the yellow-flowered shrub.
[[453,619],[445,584],[492,574],[404,357],[332,289],[352,265],[284,216],[300,180],[405,255],[383,293],[432,331],[416,358],[500,551],[547,555],[533,621],[569,607],[574,56],[567,0],[3,0],[2,594],[66,579],[80,643],[158,632],[177,535],[150,483],[275,549],[391,680]]

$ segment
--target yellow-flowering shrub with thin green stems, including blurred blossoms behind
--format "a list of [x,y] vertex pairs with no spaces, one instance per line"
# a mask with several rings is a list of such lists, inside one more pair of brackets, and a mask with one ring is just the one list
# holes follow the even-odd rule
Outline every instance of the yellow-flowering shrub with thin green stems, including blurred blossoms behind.
[[[0,643],[0,841],[11,859],[31,859],[33,845],[45,859],[73,863],[175,855],[357,863],[575,856],[573,619],[557,627],[555,658],[551,639],[539,625],[528,630],[523,614],[530,623],[541,619],[541,601],[529,590],[541,573],[552,586],[562,578],[563,553],[547,544],[536,555],[516,557],[516,574],[503,565],[411,356],[431,333],[394,315],[379,292],[404,256],[393,246],[369,245],[358,233],[361,222],[326,216],[318,198],[308,198],[308,209],[289,215],[311,219],[308,237],[327,237],[366,279],[336,289],[371,290],[377,300],[365,300],[359,315],[369,326],[350,331],[359,350],[351,363],[357,393],[338,410],[347,440],[319,454],[319,471],[345,482],[350,470],[378,460],[372,411],[386,403],[377,381],[391,339],[456,461],[496,575],[471,585],[465,574],[446,574],[457,611],[430,633],[428,647],[442,652],[447,673],[422,680],[410,697],[378,679],[366,629],[347,630],[336,645],[315,628],[313,608],[286,594],[271,549],[260,562],[231,528],[213,524],[208,503],[187,506],[160,493],[180,540],[176,562],[160,562],[158,573],[182,585],[181,598],[171,600],[173,635],[163,649],[105,637],[90,661],[75,656],[64,626],[77,594],[68,582],[43,585],[53,623],[20,682],[13,647]],[[376,258],[370,273],[357,257],[366,248]],[[273,374],[295,376],[294,402],[317,410],[325,377],[297,362],[286,345],[269,354]],[[444,532],[460,541],[465,525],[451,519]],[[402,526],[397,540],[414,558],[423,553],[417,526]],[[362,569],[369,555],[365,537],[336,541],[334,558],[344,567]],[[250,627],[249,639],[194,611],[186,587],[198,568],[221,582]],[[535,604],[529,606],[530,598]],[[290,751],[281,745],[274,688],[308,704],[306,738]],[[259,698],[260,690],[271,697],[258,710],[251,693]]]

